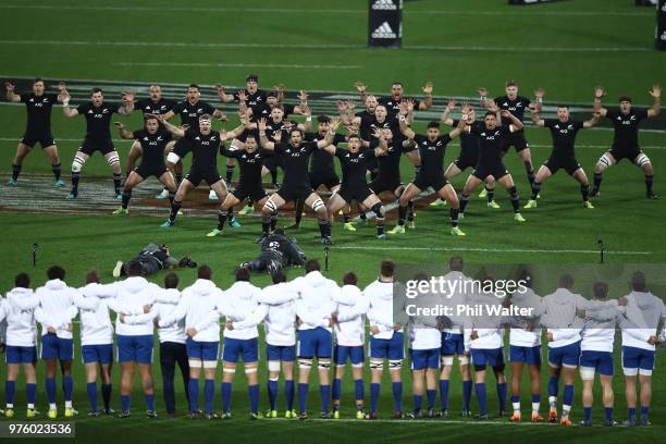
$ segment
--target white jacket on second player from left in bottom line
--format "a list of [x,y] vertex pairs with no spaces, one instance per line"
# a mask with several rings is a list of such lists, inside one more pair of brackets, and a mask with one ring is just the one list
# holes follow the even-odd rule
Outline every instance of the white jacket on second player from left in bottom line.
[[35,317],[41,324],[41,334],[46,334],[47,329],[52,326],[55,329],[55,336],[63,340],[74,337],[69,326],[77,313],[74,305],[76,294],[76,288],[67,286],[59,279],[47,281],[44,286],[35,291],[35,295],[39,298],[39,308],[35,310]]

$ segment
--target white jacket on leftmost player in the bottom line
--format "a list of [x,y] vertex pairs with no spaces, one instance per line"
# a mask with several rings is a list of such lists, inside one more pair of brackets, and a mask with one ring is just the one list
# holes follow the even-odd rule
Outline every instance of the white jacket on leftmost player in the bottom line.
[[32,288],[12,288],[7,294],[7,345],[34,347],[37,345],[35,309],[39,298]]

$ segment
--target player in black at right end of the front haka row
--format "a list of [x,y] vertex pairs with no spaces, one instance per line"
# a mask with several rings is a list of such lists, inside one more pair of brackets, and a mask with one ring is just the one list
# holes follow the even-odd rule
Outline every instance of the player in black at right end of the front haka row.
[[[502,121],[508,121],[510,124],[503,125]],[[476,134],[479,137],[479,162],[474,171],[472,171],[467,178],[465,188],[462,189],[462,195],[460,197],[460,219],[464,217],[465,208],[469,201],[469,195],[489,175],[492,175],[499,185],[509,192],[515,213],[514,219],[517,222],[525,222],[525,218],[520,214],[520,200],[514,178],[502,162],[502,149],[506,144],[505,138],[507,135],[521,130],[522,122],[520,122],[518,118],[508,110],[499,111],[494,103],[488,107],[488,112],[483,116],[483,122],[467,126],[465,131]]]

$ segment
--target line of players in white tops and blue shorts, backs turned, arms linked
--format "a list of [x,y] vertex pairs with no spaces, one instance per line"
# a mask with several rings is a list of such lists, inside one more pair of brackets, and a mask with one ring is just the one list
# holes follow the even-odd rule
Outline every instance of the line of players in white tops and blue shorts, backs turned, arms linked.
[[[449,262],[447,280],[468,280],[462,274],[462,260],[454,257]],[[485,373],[491,367],[496,377],[498,412],[504,415],[507,383],[504,362],[505,328],[510,324],[509,353],[511,363],[513,422],[521,420],[520,382],[522,368],[527,366],[531,379],[531,421],[542,422],[541,394],[541,340],[545,330],[548,349],[548,421],[558,421],[558,387],[564,380],[562,417],[559,423],[570,425],[569,412],[574,405],[576,369],[580,367],[583,382],[582,425],[592,424],[592,386],[595,372],[600,373],[605,408],[604,424],[615,425],[613,416],[614,374],[613,344],[616,329],[621,329],[622,370],[626,379],[628,419],[625,425],[636,425],[637,381],[640,384],[640,421],[649,425],[651,403],[651,377],[655,362],[655,345],[665,340],[657,336],[658,325],[666,321],[664,303],[648,291],[641,272],[632,278],[633,291],[620,299],[607,299],[608,286],[594,285],[594,298],[584,299],[572,293],[574,279],[559,278],[558,288],[543,298],[528,291],[514,294],[506,300],[494,294],[458,293],[449,304],[508,304],[532,308],[530,317],[506,319],[480,318],[419,318],[408,317],[406,300],[399,283],[394,282],[394,263],[382,261],[380,276],[363,291],[357,286],[356,276],[347,273],[341,287],[319,271],[319,263],[310,260],[306,274],[286,282],[282,273],[273,275],[273,285],[263,289],[250,284],[247,269],[236,271],[236,282],[225,291],[211,281],[207,266],[198,270],[197,281],[177,289],[177,278],[169,274],[165,288],[146,281],[140,264],[131,262],[128,278],[102,285],[91,272],[87,285],[72,288],[65,284],[64,270],[51,267],[49,281],[36,291],[30,289],[25,273],[16,276],[15,287],[1,300],[0,320],[7,324],[8,379],[5,382],[5,416],[14,416],[15,383],[20,367],[26,375],[27,417],[37,415],[36,373],[37,323],[41,325],[40,358],[46,363],[46,391],[49,403],[48,417],[57,418],[55,363],[63,371],[65,417],[76,415],[72,405],[74,340],[72,322],[81,320],[82,357],[86,367],[90,416],[112,414],[111,365],[115,332],[116,360],[122,368],[121,404],[119,417],[130,416],[131,393],[135,367],[138,368],[147,403],[147,414],[156,417],[155,390],[151,377],[153,332],[157,325],[160,341],[163,390],[166,415],[175,414],[173,374],[178,353],[186,354],[186,365],[181,366],[188,416],[208,419],[231,418],[232,383],[238,360],[248,379],[250,418],[259,412],[259,330],[263,323],[268,360],[269,418],[278,417],[280,374],[284,378],[284,405],[286,418],[308,417],[308,381],[313,367],[319,373],[321,417],[338,418],[342,398],[342,379],[347,361],[350,361],[355,380],[357,418],[379,417],[380,384],[384,365],[387,363],[394,398],[394,417],[403,418],[402,367],[405,359],[404,332],[407,332],[410,370],[412,375],[414,411],[408,417],[448,417],[449,379],[454,359],[458,357],[462,382],[462,416],[471,416],[472,380],[479,407],[479,419],[488,419]],[[427,299],[421,299],[427,304]],[[110,310],[115,312],[114,326]],[[223,378],[220,386],[222,414],[213,411],[215,397],[215,370],[219,361],[220,319],[224,318],[222,342]],[[366,353],[366,328],[370,335]],[[168,363],[165,354],[173,359]],[[295,363],[298,363],[298,381],[295,384]],[[370,406],[366,407],[363,369],[368,361],[371,373]],[[180,362],[181,363],[181,362]],[[97,371],[102,379],[103,409],[98,408]],[[334,379],[331,383],[331,367]],[[435,409],[436,371],[441,408]],[[203,411],[199,410],[199,380],[205,379]],[[171,381],[169,381],[169,378]],[[294,405],[297,392],[298,410]],[[427,397],[427,408],[421,407]],[[330,403],[332,400],[332,411]],[[367,411],[366,411],[367,410]]]

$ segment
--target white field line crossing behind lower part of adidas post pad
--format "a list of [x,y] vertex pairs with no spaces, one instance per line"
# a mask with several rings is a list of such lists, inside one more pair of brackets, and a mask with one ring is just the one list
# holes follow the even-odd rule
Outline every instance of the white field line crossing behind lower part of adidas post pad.
[[[279,48],[279,49],[367,49],[365,45],[340,44],[247,44],[247,42],[183,42],[183,41],[103,41],[103,40],[0,40],[0,45],[110,46],[158,48]],[[523,52],[654,52],[652,47],[505,47],[505,46],[405,46],[405,50],[432,51],[523,51]]]

